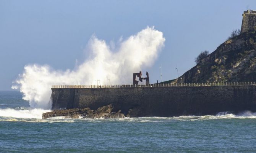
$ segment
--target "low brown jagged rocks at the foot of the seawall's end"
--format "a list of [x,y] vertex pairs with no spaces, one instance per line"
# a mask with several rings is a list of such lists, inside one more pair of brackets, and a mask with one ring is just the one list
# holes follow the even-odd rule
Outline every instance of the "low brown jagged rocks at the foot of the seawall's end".
[[42,118],[50,118],[57,116],[66,116],[66,118],[79,118],[79,116],[84,116],[83,118],[125,118],[125,115],[118,112],[112,112],[113,105],[107,105],[98,108],[96,111],[87,108],[73,108],[66,110],[54,110],[52,112],[43,113]]

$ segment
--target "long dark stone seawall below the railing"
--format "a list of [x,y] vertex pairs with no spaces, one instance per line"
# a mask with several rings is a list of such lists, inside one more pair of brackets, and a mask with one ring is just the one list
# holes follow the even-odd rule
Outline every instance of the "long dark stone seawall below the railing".
[[96,110],[113,104],[130,117],[256,111],[255,86],[52,89],[52,109]]

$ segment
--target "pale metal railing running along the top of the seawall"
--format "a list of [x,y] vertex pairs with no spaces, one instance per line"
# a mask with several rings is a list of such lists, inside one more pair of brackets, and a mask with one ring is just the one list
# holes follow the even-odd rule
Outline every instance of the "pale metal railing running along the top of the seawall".
[[118,84],[118,85],[52,85],[52,88],[139,88],[139,87],[183,87],[183,86],[255,86],[255,82],[219,83],[158,83],[158,84]]

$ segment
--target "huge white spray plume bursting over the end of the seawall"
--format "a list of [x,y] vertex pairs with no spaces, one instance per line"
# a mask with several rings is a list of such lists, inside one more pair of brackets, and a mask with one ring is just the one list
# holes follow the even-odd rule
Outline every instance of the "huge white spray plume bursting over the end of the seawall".
[[[120,40],[119,48],[111,50],[104,40],[92,36],[87,44],[89,56],[75,70],[52,70],[48,65],[26,65],[24,72],[12,86],[23,92],[32,108],[50,109],[52,85],[81,85],[131,83],[131,75],[151,66],[164,46],[163,33],[147,27],[126,40]],[[63,61],[60,61],[63,62]]]

